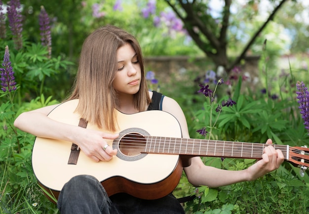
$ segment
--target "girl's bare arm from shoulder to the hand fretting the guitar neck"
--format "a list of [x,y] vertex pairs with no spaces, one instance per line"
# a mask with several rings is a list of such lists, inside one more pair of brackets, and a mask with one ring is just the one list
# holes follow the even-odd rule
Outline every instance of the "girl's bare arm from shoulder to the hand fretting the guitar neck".
[[[182,137],[190,138],[186,117],[178,103],[169,97],[164,97],[162,110],[174,115],[181,126]],[[265,147],[261,160],[245,170],[230,171],[205,166],[200,157],[193,157],[191,165],[185,167],[184,171],[189,182],[194,186],[207,185],[209,187],[219,187],[241,181],[255,180],[278,169],[284,161],[281,150],[274,149],[273,146],[271,146],[272,141],[270,139],[267,141],[267,144],[270,145]]]

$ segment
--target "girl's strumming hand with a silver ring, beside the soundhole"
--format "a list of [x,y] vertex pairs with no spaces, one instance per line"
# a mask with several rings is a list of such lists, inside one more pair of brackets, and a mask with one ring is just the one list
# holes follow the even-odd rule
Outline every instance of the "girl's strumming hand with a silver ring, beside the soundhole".
[[104,146],[107,143],[106,139],[114,140],[119,134],[104,133],[97,130],[81,129],[76,136],[76,144],[79,146],[86,156],[92,160],[109,161],[117,154],[117,149],[113,149],[112,146],[108,146],[105,149]]

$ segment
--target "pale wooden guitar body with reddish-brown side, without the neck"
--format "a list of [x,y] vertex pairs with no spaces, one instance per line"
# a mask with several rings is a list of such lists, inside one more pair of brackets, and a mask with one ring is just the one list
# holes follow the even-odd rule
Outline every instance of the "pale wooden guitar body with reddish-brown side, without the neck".
[[[78,125],[75,113],[78,100],[65,102],[53,109],[48,117],[59,122]],[[159,111],[144,111],[136,114],[118,112],[119,130],[124,135],[162,136],[181,138],[181,128],[171,114]],[[99,130],[89,124],[87,129]],[[100,130],[107,132],[106,130]],[[77,163],[68,164],[72,142],[37,137],[33,147],[32,165],[41,186],[58,198],[66,182],[77,175],[91,175],[101,181],[108,195],[125,192],[143,199],[157,199],[172,192],[182,175],[179,155],[146,154],[121,147],[121,138],[107,140],[118,149],[111,161],[94,162],[82,150]]]

